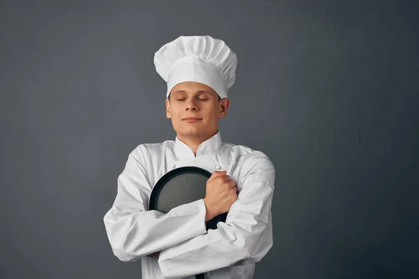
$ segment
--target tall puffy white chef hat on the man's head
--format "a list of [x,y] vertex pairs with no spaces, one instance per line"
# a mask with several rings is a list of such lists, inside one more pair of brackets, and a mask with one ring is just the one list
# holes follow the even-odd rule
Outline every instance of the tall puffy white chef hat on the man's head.
[[168,98],[181,82],[200,82],[222,98],[235,82],[237,56],[223,42],[211,36],[180,36],[154,54],[156,71],[167,82]]

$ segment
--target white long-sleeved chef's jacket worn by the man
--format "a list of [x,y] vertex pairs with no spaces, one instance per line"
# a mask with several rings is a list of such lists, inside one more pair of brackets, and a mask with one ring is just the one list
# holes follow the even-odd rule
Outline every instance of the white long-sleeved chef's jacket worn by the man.
[[[177,167],[208,172],[226,170],[236,183],[238,199],[225,223],[205,227],[203,199],[168,213],[149,211],[156,182]],[[138,145],[117,179],[117,195],[103,221],[114,255],[124,262],[141,259],[142,279],[253,278],[273,244],[271,205],[275,170],[261,151],[221,141],[217,133],[192,149],[177,137]],[[160,252],[159,258],[147,257]]]

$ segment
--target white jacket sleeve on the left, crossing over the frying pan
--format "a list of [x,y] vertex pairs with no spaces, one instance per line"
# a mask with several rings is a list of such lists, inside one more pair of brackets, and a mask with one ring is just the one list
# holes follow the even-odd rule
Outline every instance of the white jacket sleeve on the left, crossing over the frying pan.
[[203,199],[182,204],[168,213],[148,211],[152,191],[138,146],[128,156],[117,179],[117,196],[103,222],[114,255],[135,262],[207,232]]

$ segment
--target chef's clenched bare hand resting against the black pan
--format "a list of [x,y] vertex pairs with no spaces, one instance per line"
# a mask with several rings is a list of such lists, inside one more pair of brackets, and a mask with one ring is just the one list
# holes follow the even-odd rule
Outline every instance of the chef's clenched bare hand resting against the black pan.
[[219,214],[228,212],[238,198],[237,185],[226,173],[226,171],[213,172],[210,179],[207,180],[204,198],[207,209],[205,222]]

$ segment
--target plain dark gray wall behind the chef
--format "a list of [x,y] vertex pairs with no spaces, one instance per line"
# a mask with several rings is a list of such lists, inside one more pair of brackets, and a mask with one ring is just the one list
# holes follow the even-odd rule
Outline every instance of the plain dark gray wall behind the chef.
[[154,52],[237,53],[223,140],[277,169],[255,278],[418,278],[418,1],[0,1],[0,278],[140,278],[103,216],[174,140]]

